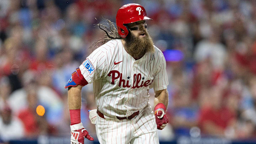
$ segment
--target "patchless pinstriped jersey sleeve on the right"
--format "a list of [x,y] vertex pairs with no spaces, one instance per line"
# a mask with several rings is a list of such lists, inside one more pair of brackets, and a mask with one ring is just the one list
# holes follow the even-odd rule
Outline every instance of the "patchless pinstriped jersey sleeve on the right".
[[158,62],[156,62],[157,67],[155,71],[155,78],[153,82],[153,87],[155,91],[167,89],[168,78],[166,72],[166,61],[164,55],[162,53],[159,54],[159,57],[156,58]]

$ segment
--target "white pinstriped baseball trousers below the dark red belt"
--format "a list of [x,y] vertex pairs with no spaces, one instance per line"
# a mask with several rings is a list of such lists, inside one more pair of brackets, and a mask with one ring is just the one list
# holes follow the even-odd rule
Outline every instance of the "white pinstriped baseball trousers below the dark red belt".
[[97,116],[96,132],[101,144],[159,144],[155,117],[149,105],[131,120],[106,121]]

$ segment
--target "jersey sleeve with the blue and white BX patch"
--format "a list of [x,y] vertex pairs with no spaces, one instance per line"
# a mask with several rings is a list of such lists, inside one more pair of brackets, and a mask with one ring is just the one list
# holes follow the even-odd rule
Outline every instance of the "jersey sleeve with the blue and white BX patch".
[[94,82],[94,80],[100,79],[105,75],[107,70],[105,52],[97,48],[82,62],[79,68],[81,74],[89,84]]

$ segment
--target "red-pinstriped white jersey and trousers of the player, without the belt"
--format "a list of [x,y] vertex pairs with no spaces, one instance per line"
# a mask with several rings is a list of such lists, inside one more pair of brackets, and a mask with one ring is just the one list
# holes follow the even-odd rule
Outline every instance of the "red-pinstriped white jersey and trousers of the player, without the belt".
[[[155,47],[155,53],[146,53],[135,60],[126,52],[121,40],[111,40],[94,50],[87,59],[79,68],[86,81],[93,83],[97,109],[106,118],[97,118],[101,143],[135,144],[146,140],[159,143],[154,115],[151,109],[144,110],[149,107],[149,89],[163,90],[168,85],[162,52]],[[94,71],[90,71],[89,64],[86,67],[87,62],[91,62]],[[128,117],[137,111],[140,111],[140,119],[137,116],[120,122],[116,118]]]

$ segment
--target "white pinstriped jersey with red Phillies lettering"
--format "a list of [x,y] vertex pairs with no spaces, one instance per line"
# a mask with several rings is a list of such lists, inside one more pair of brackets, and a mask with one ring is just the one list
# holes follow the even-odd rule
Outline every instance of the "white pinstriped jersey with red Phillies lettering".
[[110,118],[142,110],[149,103],[150,88],[163,90],[168,85],[166,61],[157,47],[155,53],[135,60],[119,39],[98,47],[79,68],[85,80],[93,82],[97,109]]

